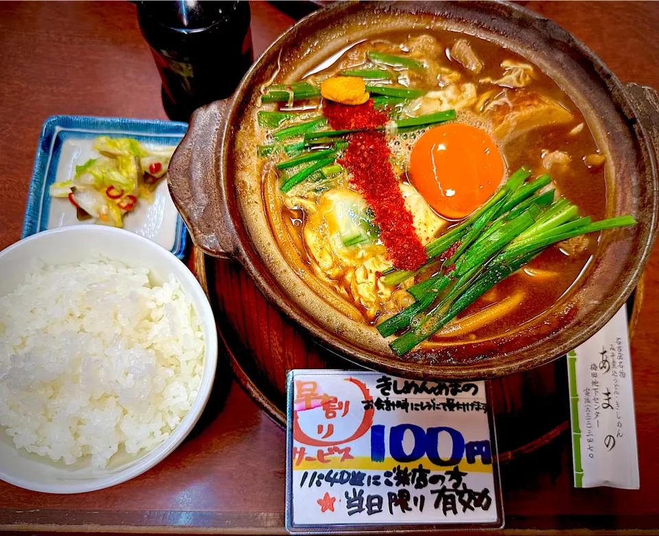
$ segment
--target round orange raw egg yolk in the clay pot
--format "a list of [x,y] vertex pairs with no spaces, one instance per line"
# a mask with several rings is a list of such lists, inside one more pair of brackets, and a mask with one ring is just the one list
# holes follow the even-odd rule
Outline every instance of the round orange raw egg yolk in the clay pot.
[[503,178],[503,160],[487,132],[450,123],[419,138],[410,156],[410,178],[435,212],[459,220],[492,197]]

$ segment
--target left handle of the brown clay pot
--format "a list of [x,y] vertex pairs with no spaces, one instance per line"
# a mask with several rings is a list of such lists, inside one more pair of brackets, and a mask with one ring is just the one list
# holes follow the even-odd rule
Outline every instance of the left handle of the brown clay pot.
[[237,250],[222,173],[222,137],[233,97],[194,111],[167,170],[167,185],[194,245],[229,259]]

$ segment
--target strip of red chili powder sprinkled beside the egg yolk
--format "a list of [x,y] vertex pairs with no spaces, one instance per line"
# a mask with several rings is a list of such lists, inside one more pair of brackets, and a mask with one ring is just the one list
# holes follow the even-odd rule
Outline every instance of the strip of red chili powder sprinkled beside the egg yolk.
[[[385,113],[373,108],[373,100],[358,106],[325,102],[323,112],[336,130],[375,128],[388,120]],[[373,223],[380,228],[380,240],[393,266],[417,270],[426,262],[426,247],[415,232],[389,156],[391,151],[383,132],[356,132],[349,138],[341,163],[350,170],[351,182],[373,209]]]

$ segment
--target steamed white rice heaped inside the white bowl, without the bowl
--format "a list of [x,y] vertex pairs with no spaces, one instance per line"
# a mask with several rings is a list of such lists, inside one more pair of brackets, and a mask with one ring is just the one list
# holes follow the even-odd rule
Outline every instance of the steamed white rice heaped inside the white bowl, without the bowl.
[[176,278],[148,276],[103,259],[38,262],[0,297],[0,426],[16,447],[105,467],[120,446],[151,450],[181,423],[203,331]]

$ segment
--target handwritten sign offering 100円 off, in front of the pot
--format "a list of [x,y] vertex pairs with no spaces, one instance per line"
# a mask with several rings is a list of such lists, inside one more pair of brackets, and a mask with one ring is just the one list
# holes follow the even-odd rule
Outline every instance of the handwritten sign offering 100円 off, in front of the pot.
[[502,526],[484,382],[288,376],[287,528]]

